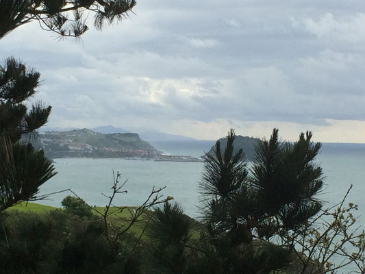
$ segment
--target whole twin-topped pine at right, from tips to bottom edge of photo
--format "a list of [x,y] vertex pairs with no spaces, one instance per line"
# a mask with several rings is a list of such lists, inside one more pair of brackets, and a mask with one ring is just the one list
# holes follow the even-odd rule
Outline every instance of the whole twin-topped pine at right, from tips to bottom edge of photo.
[[322,169],[314,162],[320,143],[311,141],[310,132],[293,144],[281,142],[274,129],[270,140],[257,145],[247,168],[243,151],[234,153],[234,138],[232,129],[225,149],[216,142],[214,153],[205,156],[201,190],[207,239],[224,259],[223,273],[270,273],[290,262],[290,249],[270,240],[301,229],[322,206],[315,198],[323,186]]

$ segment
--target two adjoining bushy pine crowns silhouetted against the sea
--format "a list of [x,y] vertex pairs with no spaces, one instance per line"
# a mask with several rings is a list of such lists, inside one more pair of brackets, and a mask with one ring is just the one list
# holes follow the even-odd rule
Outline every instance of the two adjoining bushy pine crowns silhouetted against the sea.
[[258,143],[250,175],[242,151],[233,154],[234,138],[229,132],[225,150],[217,142],[214,155],[205,157],[203,220],[212,234],[227,232],[239,245],[300,227],[320,210],[314,197],[323,186],[314,162],[320,144],[311,142],[310,132],[290,144],[274,129],[270,140]]

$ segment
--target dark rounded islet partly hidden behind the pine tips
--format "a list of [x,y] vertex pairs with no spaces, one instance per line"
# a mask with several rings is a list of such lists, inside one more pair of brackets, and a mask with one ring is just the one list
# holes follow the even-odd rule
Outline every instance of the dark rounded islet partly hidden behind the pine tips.
[[[227,145],[227,137],[221,138],[218,141],[221,142],[221,150],[223,151]],[[238,135],[236,136],[236,139],[234,139],[234,153],[236,153],[238,149],[242,149],[244,155],[246,155],[246,159],[253,160],[255,158],[255,146],[257,145],[257,142],[260,142],[260,139]],[[215,149],[215,145],[208,153],[213,153],[213,149]]]

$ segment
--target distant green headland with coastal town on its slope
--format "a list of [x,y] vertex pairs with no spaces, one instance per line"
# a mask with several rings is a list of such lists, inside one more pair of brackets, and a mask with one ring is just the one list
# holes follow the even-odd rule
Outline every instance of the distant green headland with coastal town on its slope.
[[75,129],[68,132],[42,132],[37,139],[49,158],[153,158],[159,152],[134,133],[101,134],[90,129]]

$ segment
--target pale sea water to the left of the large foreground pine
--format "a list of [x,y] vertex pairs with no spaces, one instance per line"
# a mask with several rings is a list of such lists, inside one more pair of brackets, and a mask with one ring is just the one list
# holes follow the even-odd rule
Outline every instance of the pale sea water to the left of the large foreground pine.
[[[168,155],[200,157],[209,151],[214,141],[150,142],[156,149]],[[126,160],[118,158],[59,158],[54,159],[58,172],[40,187],[39,195],[71,189],[90,206],[105,206],[112,193],[116,173],[127,192],[118,195],[116,206],[138,206],[149,197],[151,191],[164,188],[162,198],[173,197],[189,216],[199,215],[199,182],[203,172],[202,162],[158,162],[153,160]],[[69,191],[50,195],[37,201],[48,206],[61,207],[61,201]]]

